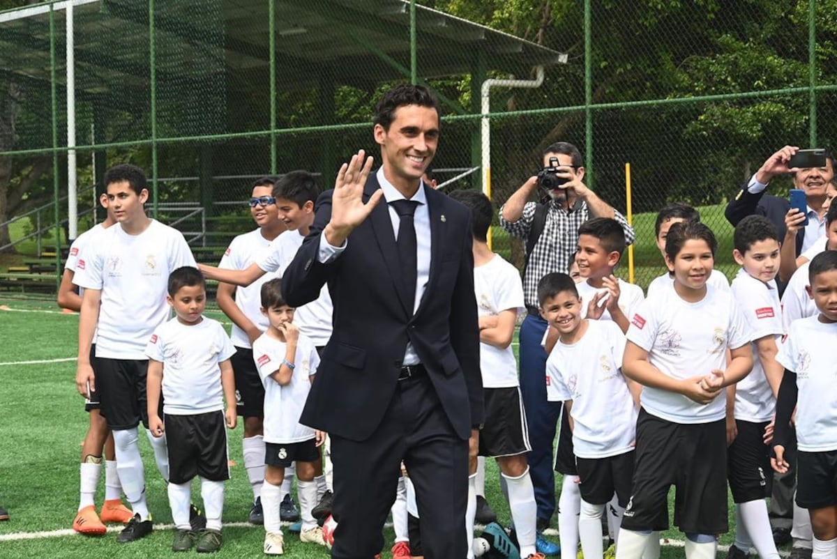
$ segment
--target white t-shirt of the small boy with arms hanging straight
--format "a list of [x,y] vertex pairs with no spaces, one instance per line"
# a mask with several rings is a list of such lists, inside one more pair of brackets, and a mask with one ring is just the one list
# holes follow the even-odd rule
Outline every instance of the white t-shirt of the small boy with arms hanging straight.
[[162,362],[163,413],[197,415],[223,410],[219,364],[235,353],[221,323],[206,316],[185,325],[177,317],[158,326],[146,356]]

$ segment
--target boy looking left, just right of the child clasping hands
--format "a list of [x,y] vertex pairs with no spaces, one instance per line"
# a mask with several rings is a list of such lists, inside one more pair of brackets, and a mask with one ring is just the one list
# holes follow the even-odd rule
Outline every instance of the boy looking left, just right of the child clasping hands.
[[743,218],[733,235],[732,254],[742,269],[732,280],[732,295],[747,323],[753,354],[752,372],[727,387],[727,479],[736,510],[736,540],[730,556],[778,559],[765,497],[773,477],[764,433],[773,419],[783,368],[776,361],[784,334],[776,274],[778,232],[768,218]]

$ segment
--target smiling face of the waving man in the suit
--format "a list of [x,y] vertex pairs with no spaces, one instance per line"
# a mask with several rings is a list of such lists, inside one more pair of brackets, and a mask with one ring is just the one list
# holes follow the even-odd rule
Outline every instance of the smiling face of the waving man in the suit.
[[439,145],[439,113],[433,107],[402,105],[388,129],[375,125],[383,174],[394,187],[410,190],[433,161]]

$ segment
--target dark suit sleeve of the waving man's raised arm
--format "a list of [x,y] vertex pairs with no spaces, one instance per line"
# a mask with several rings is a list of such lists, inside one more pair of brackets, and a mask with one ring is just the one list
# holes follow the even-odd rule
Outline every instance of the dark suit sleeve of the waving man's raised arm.
[[296,251],[296,256],[282,274],[282,295],[292,307],[306,305],[320,296],[322,286],[326,284],[336,267],[340,257],[328,264],[317,261],[320,252],[320,237],[322,230],[331,220],[331,193],[323,192],[316,201],[316,217],[311,225],[311,231],[302,246]]

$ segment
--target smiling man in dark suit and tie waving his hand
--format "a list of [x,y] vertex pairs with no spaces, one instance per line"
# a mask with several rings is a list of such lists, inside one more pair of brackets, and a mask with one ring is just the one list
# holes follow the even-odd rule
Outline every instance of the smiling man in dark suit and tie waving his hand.
[[374,138],[383,167],[371,174],[363,151],[341,167],[282,278],[289,305],[324,283],[334,303],[301,423],[331,435],[332,557],[381,551],[403,459],[424,555],[462,559],[468,438],[483,419],[470,212],[421,180],[439,142],[427,88],[384,94]]

